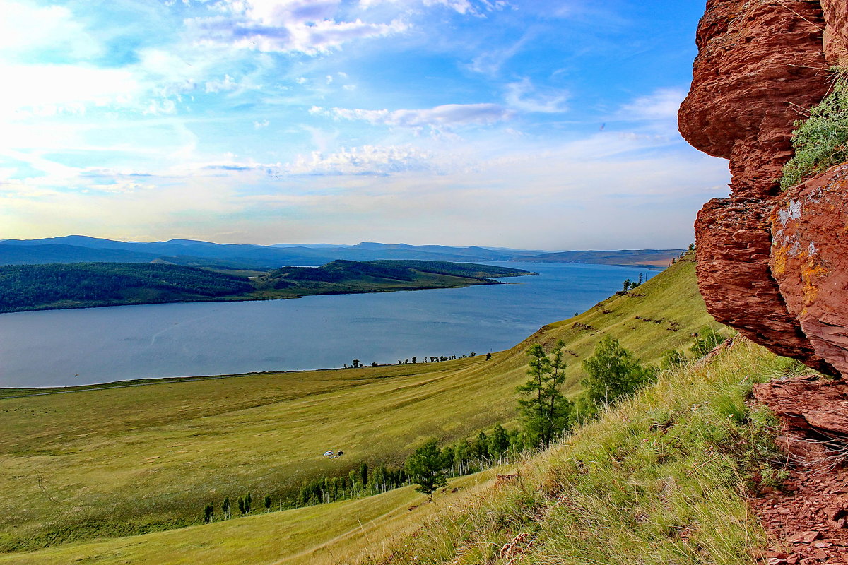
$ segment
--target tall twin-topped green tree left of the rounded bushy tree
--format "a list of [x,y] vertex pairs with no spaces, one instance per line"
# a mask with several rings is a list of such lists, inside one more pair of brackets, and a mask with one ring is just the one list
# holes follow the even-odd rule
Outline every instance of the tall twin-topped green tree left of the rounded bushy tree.
[[562,353],[565,346],[565,341],[557,341],[552,357],[538,343],[530,346],[527,350],[530,379],[516,386],[520,395],[518,412],[524,431],[539,446],[550,446],[555,435],[568,429],[572,423],[574,405],[560,390],[566,380],[566,362]]

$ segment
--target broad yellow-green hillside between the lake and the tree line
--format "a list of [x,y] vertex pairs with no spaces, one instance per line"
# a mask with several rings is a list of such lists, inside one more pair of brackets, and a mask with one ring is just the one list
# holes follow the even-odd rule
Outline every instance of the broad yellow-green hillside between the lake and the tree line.
[[[566,340],[570,390],[602,336],[656,359],[710,320],[681,262],[630,296],[550,324],[490,361],[256,374],[0,400],[0,546],[196,523],[208,501],[277,495],[360,461],[399,463],[514,418],[530,342]],[[579,325],[577,325],[579,324]],[[345,457],[329,461],[326,449]]]

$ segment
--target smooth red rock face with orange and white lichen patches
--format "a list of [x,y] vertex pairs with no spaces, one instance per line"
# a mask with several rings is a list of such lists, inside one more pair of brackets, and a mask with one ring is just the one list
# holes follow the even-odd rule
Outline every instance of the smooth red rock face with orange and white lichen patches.
[[771,270],[817,355],[848,376],[848,163],[786,191]]

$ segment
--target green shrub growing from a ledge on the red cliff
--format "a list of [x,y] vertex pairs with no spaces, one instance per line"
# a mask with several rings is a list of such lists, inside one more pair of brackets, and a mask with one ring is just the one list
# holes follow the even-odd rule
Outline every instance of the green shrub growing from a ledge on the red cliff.
[[795,157],[784,165],[780,181],[784,190],[848,160],[848,77],[844,70],[828,97],[810,110],[809,118],[796,121],[792,133]]

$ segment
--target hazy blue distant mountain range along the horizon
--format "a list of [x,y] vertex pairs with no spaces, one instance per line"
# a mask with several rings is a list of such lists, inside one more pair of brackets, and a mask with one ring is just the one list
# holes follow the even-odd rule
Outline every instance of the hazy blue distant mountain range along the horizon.
[[349,261],[522,261],[601,263],[662,268],[682,249],[543,252],[500,247],[412,246],[364,241],[354,246],[277,244],[271,246],[220,244],[209,241],[113,241],[67,235],[39,240],[0,241],[0,264],[39,263],[173,263],[225,269],[279,269],[287,265],[323,265]]

